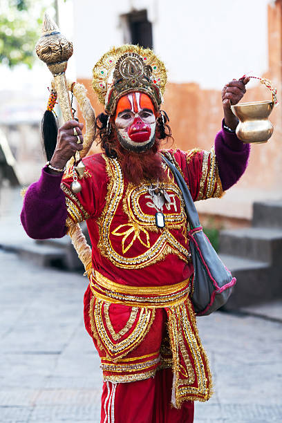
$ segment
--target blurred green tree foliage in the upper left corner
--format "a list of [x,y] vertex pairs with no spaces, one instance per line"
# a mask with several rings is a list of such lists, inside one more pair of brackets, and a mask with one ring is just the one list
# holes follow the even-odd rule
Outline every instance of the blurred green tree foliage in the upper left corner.
[[10,68],[26,64],[31,68],[46,4],[47,1],[1,0],[0,64]]

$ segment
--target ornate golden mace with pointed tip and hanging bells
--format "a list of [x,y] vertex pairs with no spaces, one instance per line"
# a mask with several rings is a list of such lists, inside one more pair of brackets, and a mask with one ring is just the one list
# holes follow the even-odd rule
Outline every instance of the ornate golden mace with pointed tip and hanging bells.
[[[68,86],[66,83],[66,67],[68,66],[68,59],[73,55],[73,43],[68,41],[64,35],[61,34],[56,23],[45,12],[42,26],[41,37],[37,41],[35,51],[39,59],[46,63],[49,71],[54,77],[55,89],[59,99],[59,105],[62,110],[64,122],[73,120],[73,113],[71,111],[71,100],[68,95]],[[75,153],[75,161],[80,160],[79,151]],[[82,176],[84,173],[84,164],[82,160],[75,167],[75,171]],[[74,182],[71,185],[73,192],[81,191],[82,186],[77,182],[77,176],[73,177]]]

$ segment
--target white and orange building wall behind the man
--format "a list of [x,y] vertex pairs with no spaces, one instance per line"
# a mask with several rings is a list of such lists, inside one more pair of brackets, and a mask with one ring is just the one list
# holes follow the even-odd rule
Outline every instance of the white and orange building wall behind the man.
[[[111,45],[122,44],[119,16],[129,12],[131,6],[140,10],[147,7],[153,22],[154,49],[169,70],[163,109],[170,118],[173,147],[212,147],[223,118],[220,89],[233,77],[248,71],[251,75],[264,75],[272,79],[281,98],[280,0],[205,0],[198,6],[187,1],[123,0],[110,2],[111,8],[95,19],[95,25],[89,23],[90,17],[97,15],[95,3],[83,3],[88,17],[82,12],[77,15],[79,9],[75,10],[77,79],[88,88],[97,113],[102,107],[91,90],[90,69]],[[89,28],[93,42],[85,44]],[[270,97],[267,88],[252,83],[245,100]],[[201,213],[250,219],[254,201],[281,198],[281,107],[274,109],[270,120],[274,135],[266,144],[252,145],[243,178],[220,201],[199,202]]]

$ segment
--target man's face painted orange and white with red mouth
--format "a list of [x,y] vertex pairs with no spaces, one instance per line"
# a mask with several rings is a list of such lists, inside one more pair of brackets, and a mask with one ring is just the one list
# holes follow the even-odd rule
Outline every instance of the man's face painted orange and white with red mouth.
[[130,151],[146,151],[153,146],[156,114],[149,95],[129,93],[120,98],[115,112],[115,126],[120,144]]

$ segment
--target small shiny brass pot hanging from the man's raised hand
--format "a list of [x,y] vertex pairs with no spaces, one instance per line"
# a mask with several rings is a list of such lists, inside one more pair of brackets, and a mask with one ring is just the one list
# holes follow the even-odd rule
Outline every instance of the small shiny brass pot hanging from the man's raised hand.
[[268,120],[274,102],[250,102],[231,106],[232,112],[237,116],[239,123],[236,135],[239,140],[250,142],[267,142],[273,133],[273,125]]

